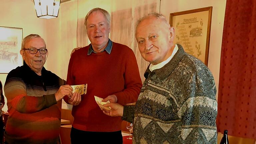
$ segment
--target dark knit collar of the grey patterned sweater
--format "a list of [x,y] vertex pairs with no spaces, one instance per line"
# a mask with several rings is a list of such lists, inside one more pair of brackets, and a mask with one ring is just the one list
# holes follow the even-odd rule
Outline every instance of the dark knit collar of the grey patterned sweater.
[[[176,54],[173,56],[173,58],[166,64],[164,65],[162,68],[160,69],[156,69],[153,70],[153,72],[156,73],[156,75],[161,79],[165,79],[166,77],[168,77],[173,70],[178,66],[179,62],[182,60],[182,58],[184,57],[184,55],[186,55],[186,52],[184,51],[184,49],[182,48],[181,45],[177,44],[178,46],[178,51],[176,52]],[[150,66],[150,65],[149,65]],[[152,72],[149,70],[149,66],[147,68],[147,70],[144,73],[144,77],[148,78],[148,75],[151,74]]]

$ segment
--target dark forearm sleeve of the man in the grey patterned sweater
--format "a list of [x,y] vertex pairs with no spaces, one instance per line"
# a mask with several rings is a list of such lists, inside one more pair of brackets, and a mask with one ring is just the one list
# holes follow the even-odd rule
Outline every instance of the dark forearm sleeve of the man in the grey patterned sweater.
[[125,105],[122,120],[128,121],[130,123],[134,122],[134,113],[135,113],[135,105]]

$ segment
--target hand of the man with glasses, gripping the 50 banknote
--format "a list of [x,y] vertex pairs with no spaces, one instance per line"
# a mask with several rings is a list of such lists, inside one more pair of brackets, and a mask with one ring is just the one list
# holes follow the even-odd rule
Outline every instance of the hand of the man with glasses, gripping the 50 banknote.
[[68,97],[71,97],[73,94],[72,91],[73,91],[73,88],[70,85],[60,86],[59,90],[55,93],[56,101],[63,99],[65,95],[67,95]]

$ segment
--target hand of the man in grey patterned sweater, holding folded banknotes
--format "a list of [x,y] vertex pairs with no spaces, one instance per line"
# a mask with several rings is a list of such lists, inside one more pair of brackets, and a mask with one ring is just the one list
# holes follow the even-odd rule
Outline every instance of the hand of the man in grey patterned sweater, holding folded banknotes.
[[108,116],[123,116],[124,107],[118,103],[108,103],[104,104],[104,107],[111,107],[111,111],[101,109],[104,114]]

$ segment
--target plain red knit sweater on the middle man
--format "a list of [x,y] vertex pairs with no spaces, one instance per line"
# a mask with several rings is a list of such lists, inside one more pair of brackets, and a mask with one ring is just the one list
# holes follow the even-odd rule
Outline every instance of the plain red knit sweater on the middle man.
[[[105,115],[94,95],[106,98],[114,94],[122,105],[136,102],[142,83],[135,55],[129,47],[114,42],[110,54],[104,50],[87,55],[89,47],[75,51],[69,61],[67,84],[88,84],[87,94],[72,108],[72,126],[95,132],[121,130],[121,117]],[[67,97],[64,100],[67,102]]]

